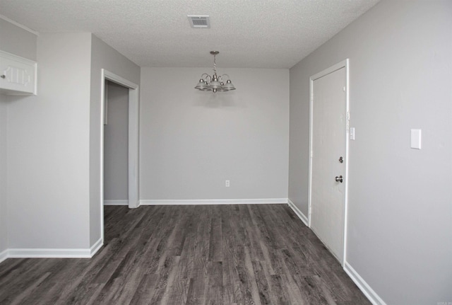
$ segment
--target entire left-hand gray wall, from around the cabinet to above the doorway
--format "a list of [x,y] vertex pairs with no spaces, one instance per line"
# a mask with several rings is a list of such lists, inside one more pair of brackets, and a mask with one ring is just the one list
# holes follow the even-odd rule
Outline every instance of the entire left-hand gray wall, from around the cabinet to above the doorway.
[[38,62],[38,95],[0,100],[0,251],[89,248],[101,231],[100,69],[139,84],[140,68],[90,33],[37,40],[0,25],[1,50]]

